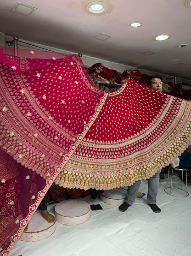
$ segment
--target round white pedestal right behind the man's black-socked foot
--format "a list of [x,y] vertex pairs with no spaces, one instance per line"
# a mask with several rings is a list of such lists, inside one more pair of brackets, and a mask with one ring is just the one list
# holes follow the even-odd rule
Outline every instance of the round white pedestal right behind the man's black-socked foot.
[[117,188],[106,190],[101,194],[101,201],[111,205],[121,205],[126,197],[127,190]]

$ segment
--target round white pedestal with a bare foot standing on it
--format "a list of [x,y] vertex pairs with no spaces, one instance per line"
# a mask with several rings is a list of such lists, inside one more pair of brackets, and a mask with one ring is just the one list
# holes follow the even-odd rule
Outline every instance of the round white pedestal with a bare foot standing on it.
[[22,232],[19,239],[25,242],[36,242],[50,237],[51,234],[55,232],[55,229],[56,221],[54,223],[49,223],[42,217],[41,211],[36,210],[32,219],[29,221],[28,230]]

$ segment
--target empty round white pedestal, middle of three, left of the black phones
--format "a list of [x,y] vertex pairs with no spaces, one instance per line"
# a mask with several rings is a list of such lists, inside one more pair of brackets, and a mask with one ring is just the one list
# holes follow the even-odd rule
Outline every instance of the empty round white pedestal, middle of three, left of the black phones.
[[90,205],[79,199],[59,202],[55,207],[56,220],[64,225],[77,225],[90,218]]

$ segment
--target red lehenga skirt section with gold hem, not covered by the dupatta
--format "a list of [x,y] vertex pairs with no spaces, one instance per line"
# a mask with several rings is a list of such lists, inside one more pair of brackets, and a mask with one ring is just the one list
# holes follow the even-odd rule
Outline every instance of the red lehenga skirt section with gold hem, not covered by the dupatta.
[[108,190],[148,179],[191,140],[191,101],[129,79],[108,94],[55,183]]

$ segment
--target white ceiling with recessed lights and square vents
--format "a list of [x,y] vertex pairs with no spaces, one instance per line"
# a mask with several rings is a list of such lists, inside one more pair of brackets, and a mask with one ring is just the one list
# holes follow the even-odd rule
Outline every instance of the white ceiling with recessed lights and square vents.
[[[191,79],[191,8],[185,0],[103,0],[111,12],[95,15],[93,0],[22,0],[37,8],[31,15],[12,12],[17,0],[0,0],[0,32],[19,39],[82,53],[140,69]],[[141,21],[132,28],[129,24]],[[111,38],[101,41],[96,35]],[[154,41],[169,34],[166,41]],[[176,48],[186,44],[185,48]],[[153,51],[157,54],[144,55]],[[177,65],[182,64],[184,65]]]

